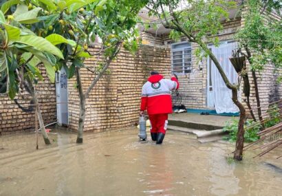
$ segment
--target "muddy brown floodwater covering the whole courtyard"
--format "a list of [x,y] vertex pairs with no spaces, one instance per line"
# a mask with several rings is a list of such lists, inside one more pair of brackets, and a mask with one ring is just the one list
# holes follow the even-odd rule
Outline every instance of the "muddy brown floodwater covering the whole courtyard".
[[228,142],[200,144],[170,131],[155,145],[137,134],[90,133],[76,144],[75,133],[58,131],[52,146],[39,138],[38,151],[33,133],[3,135],[0,195],[281,195],[282,149],[256,159],[258,151],[247,151],[232,162]]

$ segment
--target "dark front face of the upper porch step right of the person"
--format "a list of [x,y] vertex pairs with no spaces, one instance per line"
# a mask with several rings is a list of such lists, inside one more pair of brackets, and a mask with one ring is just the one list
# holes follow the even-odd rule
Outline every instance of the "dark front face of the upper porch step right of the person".
[[213,124],[204,124],[204,123],[198,123],[198,122],[187,122],[182,120],[169,120],[169,125],[174,127],[184,127],[186,129],[197,129],[197,130],[216,130],[216,129],[222,129],[223,127],[216,126]]

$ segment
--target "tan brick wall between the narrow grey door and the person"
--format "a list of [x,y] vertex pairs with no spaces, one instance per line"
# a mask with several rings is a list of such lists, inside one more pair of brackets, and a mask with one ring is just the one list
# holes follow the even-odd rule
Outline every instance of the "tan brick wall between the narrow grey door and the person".
[[[98,47],[90,49],[95,53]],[[87,67],[95,67],[98,58],[85,61]],[[102,59],[100,59],[102,61]],[[103,76],[91,91],[86,102],[85,131],[102,131],[127,127],[138,121],[142,85],[151,70],[158,70],[166,78],[170,74],[170,52],[164,48],[141,45],[135,56],[122,51],[111,63],[111,74]],[[81,69],[83,90],[86,91],[94,74]],[[69,80],[69,102],[78,102],[76,80]],[[69,127],[77,129],[79,108],[69,104]]]

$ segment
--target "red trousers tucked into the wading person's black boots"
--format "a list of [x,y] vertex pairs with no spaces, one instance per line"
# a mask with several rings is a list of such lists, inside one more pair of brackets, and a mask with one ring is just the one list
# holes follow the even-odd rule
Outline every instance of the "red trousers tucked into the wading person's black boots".
[[151,133],[164,133],[166,134],[166,127],[168,123],[167,113],[158,113],[149,115],[151,122]]

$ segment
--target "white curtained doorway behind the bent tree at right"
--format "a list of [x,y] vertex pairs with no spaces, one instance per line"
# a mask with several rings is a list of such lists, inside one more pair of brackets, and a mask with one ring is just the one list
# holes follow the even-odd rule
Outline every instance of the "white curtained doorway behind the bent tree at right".
[[[237,83],[237,72],[229,61],[232,57],[232,50],[235,50],[237,44],[233,41],[221,43],[219,47],[210,46],[210,50],[215,54],[221,68],[230,83]],[[207,65],[207,107],[215,107],[217,113],[236,113],[239,111],[232,101],[232,91],[228,89],[218,72],[213,61],[208,58]]]

